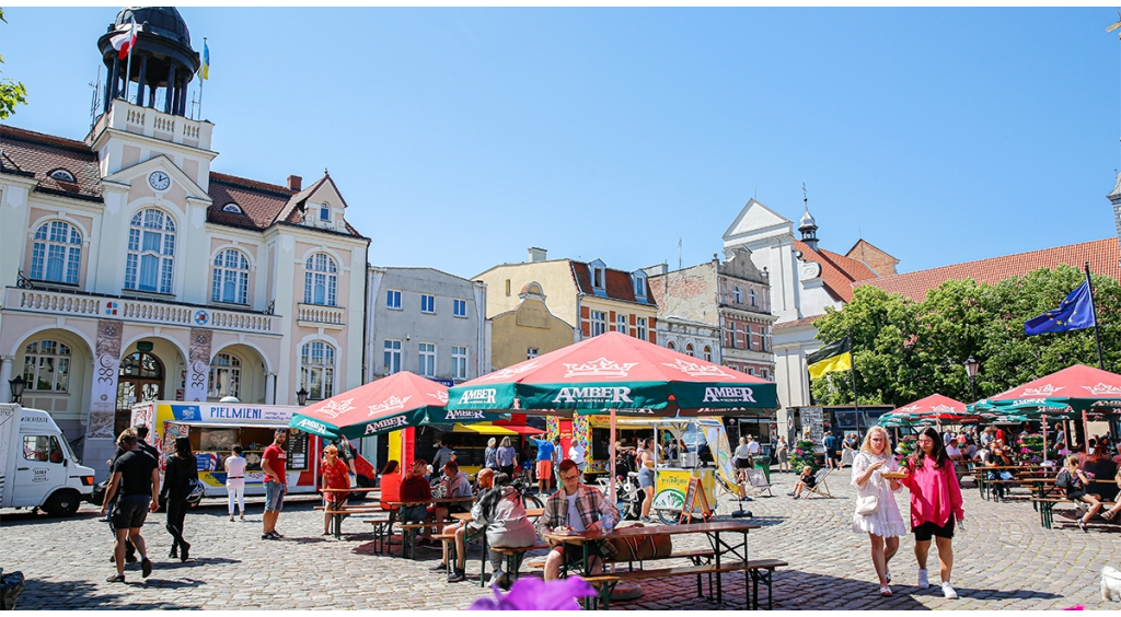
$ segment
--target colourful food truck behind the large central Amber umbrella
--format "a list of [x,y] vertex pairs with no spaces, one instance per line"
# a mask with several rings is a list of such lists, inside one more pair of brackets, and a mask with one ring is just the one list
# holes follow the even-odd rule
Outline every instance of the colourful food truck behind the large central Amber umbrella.
[[[611,420],[605,415],[574,415],[572,419],[548,418],[546,437],[560,437],[560,447],[568,451],[575,441],[584,446],[587,469],[606,473],[610,469],[609,445]],[[730,487],[734,494],[735,470],[728,432],[716,418],[617,418],[615,437],[624,447],[633,447],[638,439],[654,438],[659,445],[655,464],[652,510],[664,522],[676,522],[685,503],[689,480],[701,479],[710,507],[716,507],[716,484]],[[678,445],[675,458],[668,456],[668,443]],[[707,445],[711,460],[702,460],[700,450]],[[617,469],[617,473],[621,473]]]

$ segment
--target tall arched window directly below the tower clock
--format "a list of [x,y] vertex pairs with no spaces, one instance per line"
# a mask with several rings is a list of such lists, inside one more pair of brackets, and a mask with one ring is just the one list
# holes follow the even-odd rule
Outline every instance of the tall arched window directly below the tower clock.
[[158,209],[138,212],[129,227],[124,289],[172,292],[175,262],[175,223]]

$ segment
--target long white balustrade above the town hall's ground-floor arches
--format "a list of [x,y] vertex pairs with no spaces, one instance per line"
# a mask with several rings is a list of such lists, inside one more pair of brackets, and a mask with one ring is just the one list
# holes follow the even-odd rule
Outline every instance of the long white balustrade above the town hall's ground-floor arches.
[[275,315],[239,312],[151,300],[103,298],[19,287],[9,287],[6,291],[4,310],[204,327],[215,330],[280,334],[280,317]]

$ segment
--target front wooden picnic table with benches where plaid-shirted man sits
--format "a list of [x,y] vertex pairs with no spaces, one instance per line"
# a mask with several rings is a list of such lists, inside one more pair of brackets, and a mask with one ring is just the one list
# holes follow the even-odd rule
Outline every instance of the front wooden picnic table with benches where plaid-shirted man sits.
[[[703,533],[708,540],[708,544],[715,554],[715,569],[712,571],[716,574],[716,601],[723,600],[723,580],[722,572],[724,568],[721,563],[721,558],[724,555],[732,555],[739,560],[735,565],[742,565],[744,571],[748,569],[748,532],[751,530],[758,530],[760,525],[754,523],[745,523],[741,521],[720,521],[714,523],[689,523],[685,525],[655,525],[655,526],[630,526],[614,529],[611,533],[603,533],[602,530],[593,530],[589,532],[581,533],[555,533],[546,532],[541,534],[541,537],[548,542],[555,542],[562,546],[580,546],[583,553],[583,559],[581,563],[583,565],[582,574],[584,577],[592,576],[592,550],[599,550],[599,546],[603,542],[610,540],[626,540],[626,539],[640,539],[648,537],[652,535],[683,535],[683,534],[696,534]],[[740,534],[741,540],[738,544],[725,542],[721,534]],[[560,576],[568,576],[568,559],[562,561]],[[677,576],[678,572],[668,572],[666,576]],[[694,571],[683,570],[683,574],[697,573]],[[614,585],[604,585],[600,595],[603,596],[604,590],[606,591],[606,597],[603,598],[604,604],[610,599],[611,589]],[[748,588],[745,593],[748,595],[748,606],[751,605],[751,590],[750,586],[744,582],[744,587]],[[711,590],[710,590],[711,591]],[[586,604],[586,600],[585,600]]]

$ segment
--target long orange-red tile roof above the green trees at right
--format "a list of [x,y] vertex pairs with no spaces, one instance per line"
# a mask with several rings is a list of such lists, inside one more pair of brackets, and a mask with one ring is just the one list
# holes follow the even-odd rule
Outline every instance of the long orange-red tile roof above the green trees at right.
[[1022,277],[1040,268],[1054,269],[1066,264],[1082,269],[1087,261],[1090,270],[1094,273],[1105,274],[1121,281],[1119,260],[1121,260],[1121,246],[1118,244],[1118,239],[1108,237],[1015,255],[955,263],[882,279],[856,281],[852,287],[871,284],[889,293],[901,293],[905,298],[923,301],[932,289],[945,281],[973,279],[976,282],[993,284],[1009,277]]

